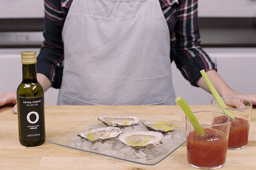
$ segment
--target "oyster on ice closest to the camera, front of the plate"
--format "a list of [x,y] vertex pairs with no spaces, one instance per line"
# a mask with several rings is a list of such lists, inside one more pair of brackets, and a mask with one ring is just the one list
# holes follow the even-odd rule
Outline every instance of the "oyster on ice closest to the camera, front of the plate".
[[162,144],[162,138],[162,133],[153,131],[128,132],[118,136],[119,142],[134,149],[140,149],[146,146],[156,147]]

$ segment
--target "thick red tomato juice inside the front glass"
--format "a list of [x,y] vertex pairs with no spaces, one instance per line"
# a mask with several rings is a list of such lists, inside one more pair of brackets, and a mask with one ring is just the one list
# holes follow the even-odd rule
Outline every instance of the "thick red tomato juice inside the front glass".
[[187,134],[187,160],[197,167],[217,167],[226,162],[227,135],[217,129],[205,128],[205,136],[194,131]]

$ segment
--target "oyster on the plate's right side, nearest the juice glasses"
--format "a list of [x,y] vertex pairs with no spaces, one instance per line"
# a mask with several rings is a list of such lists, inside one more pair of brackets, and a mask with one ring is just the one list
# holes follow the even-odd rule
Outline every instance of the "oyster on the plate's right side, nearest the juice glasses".
[[142,124],[147,127],[148,130],[157,131],[161,133],[168,133],[177,129],[177,127],[173,123],[169,122],[160,122],[155,120],[141,121]]

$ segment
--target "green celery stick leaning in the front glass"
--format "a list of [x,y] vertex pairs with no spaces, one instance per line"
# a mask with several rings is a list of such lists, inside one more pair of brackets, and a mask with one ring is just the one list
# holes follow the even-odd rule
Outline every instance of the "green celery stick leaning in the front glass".
[[[186,116],[189,118],[189,120],[191,122],[197,123],[198,119],[196,119],[194,113],[191,111],[189,105],[185,102],[185,100],[181,97],[177,97],[177,99],[175,99],[175,102],[177,102],[178,105],[180,105],[180,108],[182,108],[182,110],[184,111],[184,113],[186,114]],[[193,124],[194,128],[195,128],[195,132],[199,135],[199,136],[204,136],[204,129],[197,124]]]

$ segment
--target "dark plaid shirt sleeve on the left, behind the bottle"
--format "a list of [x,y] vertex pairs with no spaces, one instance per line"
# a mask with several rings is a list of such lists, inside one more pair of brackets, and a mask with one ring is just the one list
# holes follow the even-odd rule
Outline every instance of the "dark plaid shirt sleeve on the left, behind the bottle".
[[61,86],[64,60],[61,31],[71,2],[72,0],[44,0],[45,41],[37,57],[37,72],[47,76],[53,88]]

